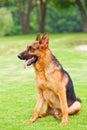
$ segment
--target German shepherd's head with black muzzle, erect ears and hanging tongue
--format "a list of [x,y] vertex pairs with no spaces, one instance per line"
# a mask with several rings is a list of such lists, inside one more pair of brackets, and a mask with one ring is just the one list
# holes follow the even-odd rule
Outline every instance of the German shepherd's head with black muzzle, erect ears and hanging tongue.
[[18,58],[25,60],[24,68],[31,64],[35,64],[38,59],[48,49],[49,36],[48,33],[41,38],[40,34],[37,35],[36,40],[26,50],[18,54]]

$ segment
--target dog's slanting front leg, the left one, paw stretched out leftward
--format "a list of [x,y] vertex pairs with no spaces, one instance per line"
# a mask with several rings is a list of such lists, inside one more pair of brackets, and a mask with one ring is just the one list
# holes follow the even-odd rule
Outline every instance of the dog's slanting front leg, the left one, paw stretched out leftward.
[[25,124],[33,123],[39,117],[39,113],[43,106],[43,103],[44,103],[43,96],[41,94],[38,94],[38,99],[37,99],[37,103],[36,103],[33,115],[29,120],[25,122]]

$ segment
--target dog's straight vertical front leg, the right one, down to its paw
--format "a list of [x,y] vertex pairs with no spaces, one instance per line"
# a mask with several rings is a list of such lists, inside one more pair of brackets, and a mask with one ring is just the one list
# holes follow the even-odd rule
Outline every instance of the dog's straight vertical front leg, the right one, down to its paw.
[[68,106],[67,106],[67,99],[66,99],[66,90],[64,86],[60,87],[58,96],[60,99],[61,111],[62,111],[62,121],[60,124],[65,124],[68,122]]

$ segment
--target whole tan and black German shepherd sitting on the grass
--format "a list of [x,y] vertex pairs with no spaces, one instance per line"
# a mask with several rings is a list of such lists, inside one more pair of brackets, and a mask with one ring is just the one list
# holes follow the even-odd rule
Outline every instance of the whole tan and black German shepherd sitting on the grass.
[[[60,124],[65,124],[68,122],[68,115],[79,112],[80,99],[76,98],[70,75],[49,49],[48,33],[42,38],[38,34],[36,40],[27,46],[18,58],[25,60],[24,68],[31,64],[34,66],[38,92],[33,115],[25,123],[32,123],[39,117],[52,114],[57,119],[62,116]],[[43,105],[45,105],[44,112],[40,114]]]

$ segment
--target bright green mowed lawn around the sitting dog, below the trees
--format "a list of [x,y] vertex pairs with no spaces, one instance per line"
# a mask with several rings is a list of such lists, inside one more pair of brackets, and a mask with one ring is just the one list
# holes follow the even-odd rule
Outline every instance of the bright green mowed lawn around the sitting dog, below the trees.
[[34,41],[36,35],[0,38],[0,130],[87,130],[87,51],[75,46],[86,44],[87,33],[50,34],[50,49],[70,73],[77,97],[82,100],[81,111],[69,116],[69,122],[60,126],[60,120],[51,115],[24,125],[34,110],[37,91],[34,69],[23,68],[24,61],[17,54]]

